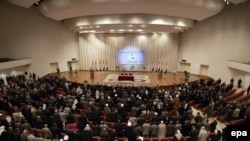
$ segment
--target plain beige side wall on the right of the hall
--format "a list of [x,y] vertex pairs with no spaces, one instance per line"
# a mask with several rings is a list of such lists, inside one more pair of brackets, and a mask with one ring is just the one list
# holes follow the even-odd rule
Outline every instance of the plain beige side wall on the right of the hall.
[[249,71],[232,69],[228,62],[250,62],[249,7],[250,1],[227,5],[218,15],[197,22],[193,29],[182,33],[178,60],[191,63],[191,73],[199,74],[200,65],[204,64],[209,66],[209,76],[227,83],[231,78],[242,78],[247,87]]

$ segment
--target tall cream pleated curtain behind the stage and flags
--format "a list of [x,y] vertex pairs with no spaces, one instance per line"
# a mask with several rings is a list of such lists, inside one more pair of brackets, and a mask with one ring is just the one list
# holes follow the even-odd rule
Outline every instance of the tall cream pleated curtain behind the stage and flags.
[[[118,51],[143,50],[145,64],[119,65]],[[103,69],[151,71],[153,68],[176,71],[177,33],[98,33],[79,34],[81,70]]]

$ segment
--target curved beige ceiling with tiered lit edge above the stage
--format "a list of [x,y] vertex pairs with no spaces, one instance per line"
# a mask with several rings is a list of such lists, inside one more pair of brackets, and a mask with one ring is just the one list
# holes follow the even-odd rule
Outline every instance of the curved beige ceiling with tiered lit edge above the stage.
[[[7,1],[30,8],[40,0]],[[176,33],[216,15],[225,6],[224,0],[43,0],[37,7],[44,16],[79,33]]]

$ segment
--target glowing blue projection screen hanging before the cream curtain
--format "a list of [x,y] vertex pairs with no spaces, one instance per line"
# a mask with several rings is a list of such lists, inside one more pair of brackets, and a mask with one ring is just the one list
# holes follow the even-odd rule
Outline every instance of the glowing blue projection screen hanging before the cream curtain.
[[145,52],[143,50],[118,51],[118,63],[121,65],[145,64]]

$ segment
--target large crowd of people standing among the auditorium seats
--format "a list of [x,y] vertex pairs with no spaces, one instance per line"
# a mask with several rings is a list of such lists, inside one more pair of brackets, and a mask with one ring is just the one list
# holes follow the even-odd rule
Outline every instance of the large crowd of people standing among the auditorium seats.
[[[171,90],[147,86],[108,86],[70,82],[57,76],[8,76],[0,81],[0,140],[102,141],[138,137],[219,141],[224,137],[213,110],[245,118],[249,101],[229,104],[221,98],[233,84],[201,79]],[[189,101],[202,103],[206,113],[194,114]],[[230,119],[230,120],[231,120]],[[67,136],[65,136],[67,135]]]

